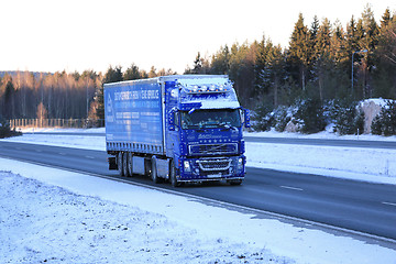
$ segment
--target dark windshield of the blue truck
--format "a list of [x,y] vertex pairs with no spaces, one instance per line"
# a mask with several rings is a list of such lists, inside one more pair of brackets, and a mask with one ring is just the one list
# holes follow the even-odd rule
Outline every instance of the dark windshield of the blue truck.
[[205,109],[182,111],[182,129],[241,127],[238,109]]

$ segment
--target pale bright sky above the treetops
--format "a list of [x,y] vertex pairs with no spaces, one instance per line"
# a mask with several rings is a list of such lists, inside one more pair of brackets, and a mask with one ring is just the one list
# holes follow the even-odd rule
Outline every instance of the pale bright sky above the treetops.
[[286,47],[301,12],[345,28],[370,3],[377,22],[394,0],[1,0],[0,70],[106,72],[172,68],[183,74],[198,52],[262,40]]

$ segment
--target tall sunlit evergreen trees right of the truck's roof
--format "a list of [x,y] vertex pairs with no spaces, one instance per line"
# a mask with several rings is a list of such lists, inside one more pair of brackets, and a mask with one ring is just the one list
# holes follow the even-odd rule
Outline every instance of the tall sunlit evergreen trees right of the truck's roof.
[[290,106],[296,98],[396,98],[396,16],[386,9],[377,23],[366,6],[346,28],[317,16],[307,26],[300,13],[287,48],[265,36],[224,45],[210,58],[198,53],[186,73],[228,74],[250,107]]

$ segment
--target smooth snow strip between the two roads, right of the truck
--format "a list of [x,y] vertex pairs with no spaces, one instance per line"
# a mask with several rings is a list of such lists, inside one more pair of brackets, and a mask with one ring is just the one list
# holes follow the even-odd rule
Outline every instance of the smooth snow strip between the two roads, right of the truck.
[[396,185],[396,150],[246,142],[248,166]]

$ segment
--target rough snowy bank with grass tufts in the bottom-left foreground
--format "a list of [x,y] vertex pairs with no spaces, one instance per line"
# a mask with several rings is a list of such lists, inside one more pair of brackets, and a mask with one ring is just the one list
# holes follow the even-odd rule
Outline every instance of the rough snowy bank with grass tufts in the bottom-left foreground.
[[293,263],[206,238],[163,215],[11,173],[0,173],[0,263]]

